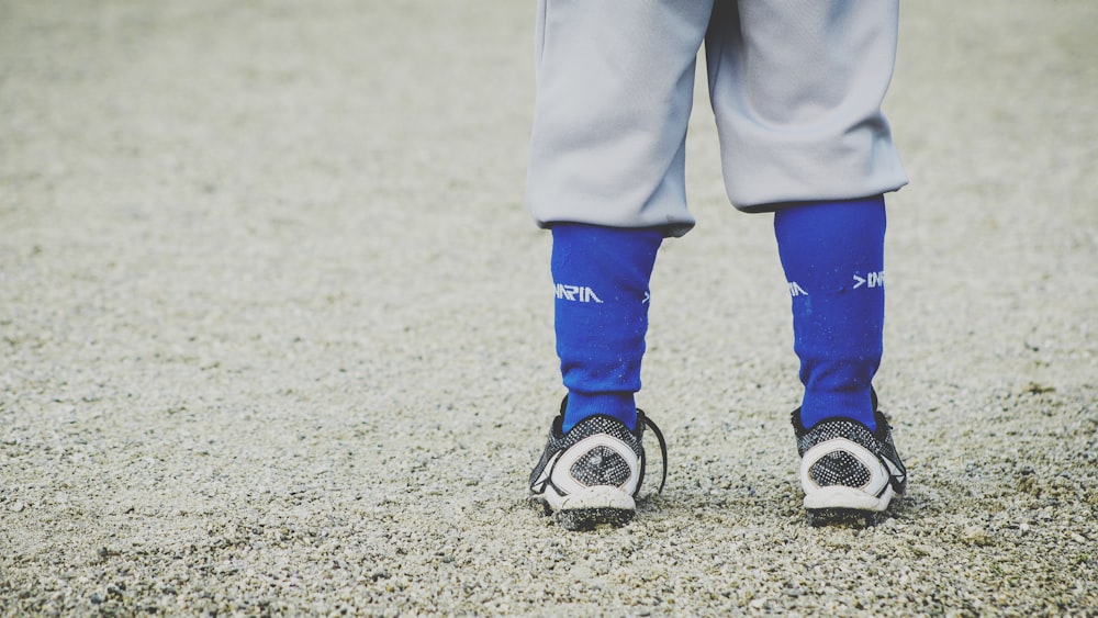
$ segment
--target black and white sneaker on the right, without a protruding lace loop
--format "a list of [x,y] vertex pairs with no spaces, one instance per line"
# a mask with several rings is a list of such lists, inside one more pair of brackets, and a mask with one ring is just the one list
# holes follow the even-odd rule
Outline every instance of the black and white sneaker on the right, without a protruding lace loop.
[[907,490],[907,469],[876,403],[874,394],[876,431],[849,418],[828,418],[805,429],[800,408],[793,412],[810,526],[859,519],[873,524]]

